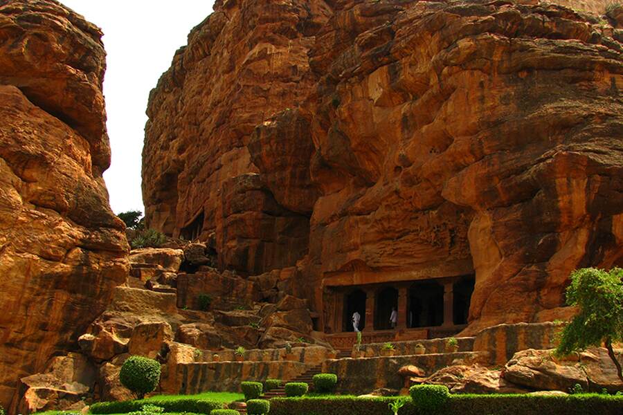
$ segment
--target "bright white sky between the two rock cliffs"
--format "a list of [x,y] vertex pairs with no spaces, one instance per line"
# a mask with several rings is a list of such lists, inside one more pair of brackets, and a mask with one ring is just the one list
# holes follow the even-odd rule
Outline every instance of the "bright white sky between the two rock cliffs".
[[102,28],[112,164],[104,178],[115,213],[143,209],[141,151],[147,98],[213,0],[60,0]]

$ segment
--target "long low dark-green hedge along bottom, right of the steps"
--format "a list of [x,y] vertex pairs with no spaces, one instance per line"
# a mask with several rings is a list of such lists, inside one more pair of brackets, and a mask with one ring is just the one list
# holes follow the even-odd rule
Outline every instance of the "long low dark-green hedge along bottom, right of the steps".
[[[390,398],[319,396],[271,399],[270,415],[393,415]],[[416,409],[408,398],[399,415],[429,415]],[[451,395],[444,415],[621,415],[623,396],[583,394],[568,396],[538,395]]]

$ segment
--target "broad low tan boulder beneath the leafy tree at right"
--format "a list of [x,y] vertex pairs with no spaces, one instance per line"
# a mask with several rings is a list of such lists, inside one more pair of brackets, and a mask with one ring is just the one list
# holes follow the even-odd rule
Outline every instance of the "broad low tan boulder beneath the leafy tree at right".
[[[608,351],[591,347],[561,360],[552,357],[552,349],[527,349],[515,353],[507,362],[503,376],[508,382],[532,390],[569,391],[575,384],[585,391],[623,391],[623,382]],[[621,351],[617,351],[621,356]]]

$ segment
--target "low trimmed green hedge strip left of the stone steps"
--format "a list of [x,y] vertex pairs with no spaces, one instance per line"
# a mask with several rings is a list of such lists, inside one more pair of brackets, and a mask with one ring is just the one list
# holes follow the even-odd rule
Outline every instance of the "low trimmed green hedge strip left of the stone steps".
[[127,414],[138,412],[143,409],[143,405],[156,405],[164,409],[164,412],[194,412],[195,414],[210,414],[213,409],[222,409],[225,405],[222,402],[208,399],[180,398],[174,400],[160,400],[151,398],[150,400],[123,400],[122,402],[101,402],[94,403],[89,407],[91,414]]

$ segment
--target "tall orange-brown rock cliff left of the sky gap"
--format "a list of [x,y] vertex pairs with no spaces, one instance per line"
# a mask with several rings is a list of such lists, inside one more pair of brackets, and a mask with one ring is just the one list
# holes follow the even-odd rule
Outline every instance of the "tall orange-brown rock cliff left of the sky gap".
[[[102,33],[56,1],[0,1],[0,405],[77,347],[128,272],[111,212]],[[12,403],[11,403],[12,401]]]

